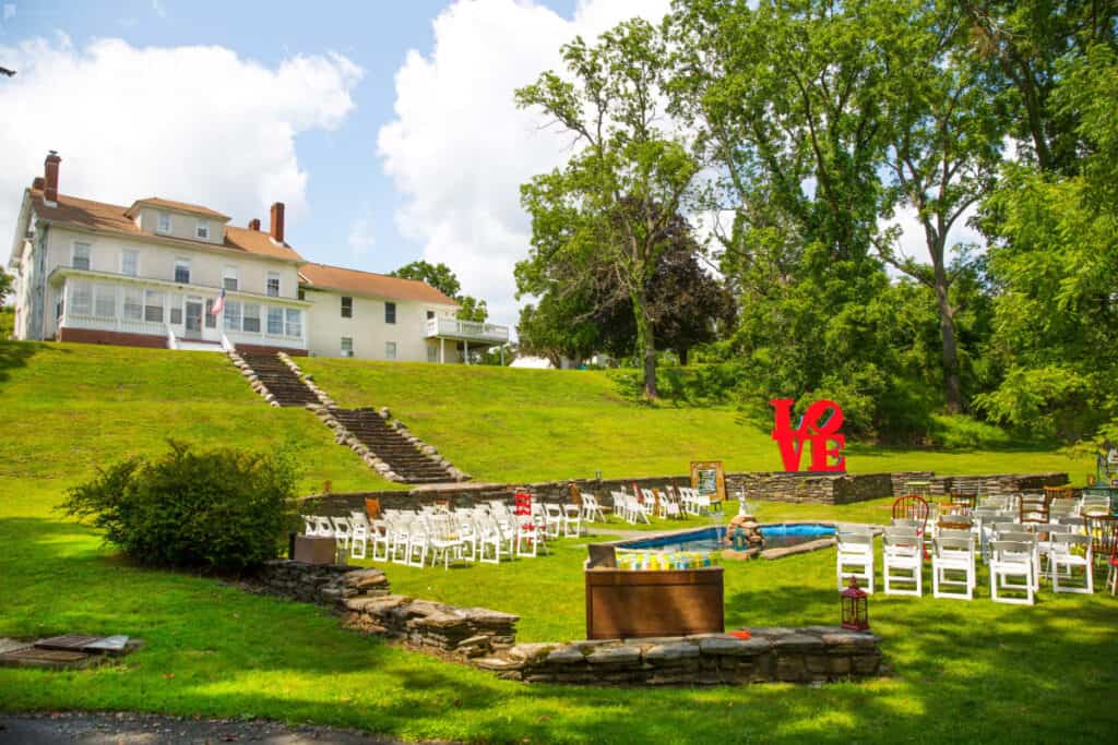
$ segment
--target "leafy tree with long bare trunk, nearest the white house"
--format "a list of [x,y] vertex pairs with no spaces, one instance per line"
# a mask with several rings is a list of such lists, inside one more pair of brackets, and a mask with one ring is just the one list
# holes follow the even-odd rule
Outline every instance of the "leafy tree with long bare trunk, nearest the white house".
[[547,290],[552,265],[606,267],[628,296],[644,393],[655,399],[648,286],[699,168],[686,145],[662,130],[665,40],[634,19],[596,45],[576,39],[562,48],[562,58],[566,77],[548,71],[517,92],[519,106],[542,109],[579,147],[563,168],[521,188],[532,247],[518,267],[518,289]]

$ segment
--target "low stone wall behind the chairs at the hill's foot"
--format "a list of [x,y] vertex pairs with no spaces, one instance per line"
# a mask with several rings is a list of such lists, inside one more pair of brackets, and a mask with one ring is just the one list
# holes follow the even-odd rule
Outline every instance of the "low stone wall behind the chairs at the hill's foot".
[[[880,497],[901,496],[907,481],[930,481],[932,497],[942,497],[955,490],[974,490],[975,485],[983,494],[996,496],[1044,486],[1068,484],[1067,474],[1002,474],[987,476],[940,476],[931,471],[899,471],[892,474],[813,474],[779,471],[742,471],[726,475],[728,496],[736,497],[739,489],[746,499],[817,503],[845,505]],[[609,493],[625,486],[632,488],[663,487],[665,484],[688,486],[690,476],[659,476],[626,479],[577,479],[574,481],[581,491],[598,497],[603,505],[609,505]],[[567,503],[570,500],[571,481],[540,481],[536,484],[461,484],[453,487],[419,487],[410,491],[360,491],[348,494],[325,494],[303,497],[300,512],[316,515],[345,515],[350,510],[364,509],[369,497],[380,499],[382,508],[414,509],[417,505],[449,502],[452,507],[472,507],[481,502],[501,499],[512,504],[513,494],[524,488],[542,502]]]

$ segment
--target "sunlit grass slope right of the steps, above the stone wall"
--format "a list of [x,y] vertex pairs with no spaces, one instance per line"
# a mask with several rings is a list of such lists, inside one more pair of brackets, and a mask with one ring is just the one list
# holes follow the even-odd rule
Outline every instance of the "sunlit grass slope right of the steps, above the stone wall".
[[[692,460],[729,470],[783,470],[770,423],[729,408],[624,400],[605,372],[311,359],[300,365],[344,407],[387,405],[475,480],[671,476]],[[851,442],[847,469],[869,474],[1069,471],[1090,459],[1036,449],[894,450]],[[807,468],[805,457],[804,468]]]

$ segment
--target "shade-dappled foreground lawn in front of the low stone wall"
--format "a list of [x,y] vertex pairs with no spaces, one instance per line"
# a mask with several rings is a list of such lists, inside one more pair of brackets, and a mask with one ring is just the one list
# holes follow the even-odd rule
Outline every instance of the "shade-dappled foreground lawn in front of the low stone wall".
[[[6,632],[42,624],[148,642],[114,668],[0,670],[8,710],[253,715],[487,742],[1106,742],[1118,725],[1109,598],[1030,609],[874,595],[893,677],[864,684],[528,686],[344,631],[316,606],[123,565],[82,525],[4,519],[0,543],[9,547],[0,557]],[[740,577],[728,588],[728,615],[827,622],[836,592],[817,577],[831,562],[805,557],[768,585],[762,571]],[[799,571],[800,584],[816,584],[799,586]]]

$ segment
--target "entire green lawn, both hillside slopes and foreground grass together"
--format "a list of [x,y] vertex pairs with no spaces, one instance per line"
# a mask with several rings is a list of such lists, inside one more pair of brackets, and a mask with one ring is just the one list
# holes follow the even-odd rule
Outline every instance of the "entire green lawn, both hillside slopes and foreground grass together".
[[[619,401],[600,375],[319,360],[306,367],[340,402],[392,407],[489,480],[595,469],[676,474],[692,457],[723,457],[731,468],[777,465],[764,432],[740,427],[732,412],[635,407]],[[2,668],[3,711],[262,716],[486,742],[1062,743],[1105,742],[1118,729],[1118,601],[1101,593],[1054,598],[1045,590],[1034,608],[995,605],[983,588],[972,603],[874,595],[873,628],[884,638],[892,675],[860,685],[523,686],[342,631],[315,606],[246,594],[210,577],[139,569],[55,510],[65,488],[97,465],[159,451],[167,437],[288,447],[303,462],[307,491],[324,480],[338,490],[389,488],[307,412],[266,407],[222,356],[0,344],[0,405],[7,414],[0,636],[80,631],[146,641],[120,665],[100,669]],[[1052,453],[874,458],[872,467],[852,466],[1068,469]],[[765,522],[881,522],[884,502],[837,508],[760,503],[756,512]],[[391,565],[387,573],[400,592],[519,613],[523,640],[565,639],[582,633],[584,556],[580,542],[567,539],[550,556],[496,567]],[[833,562],[834,553],[824,551],[728,565],[728,622],[834,622]]]

